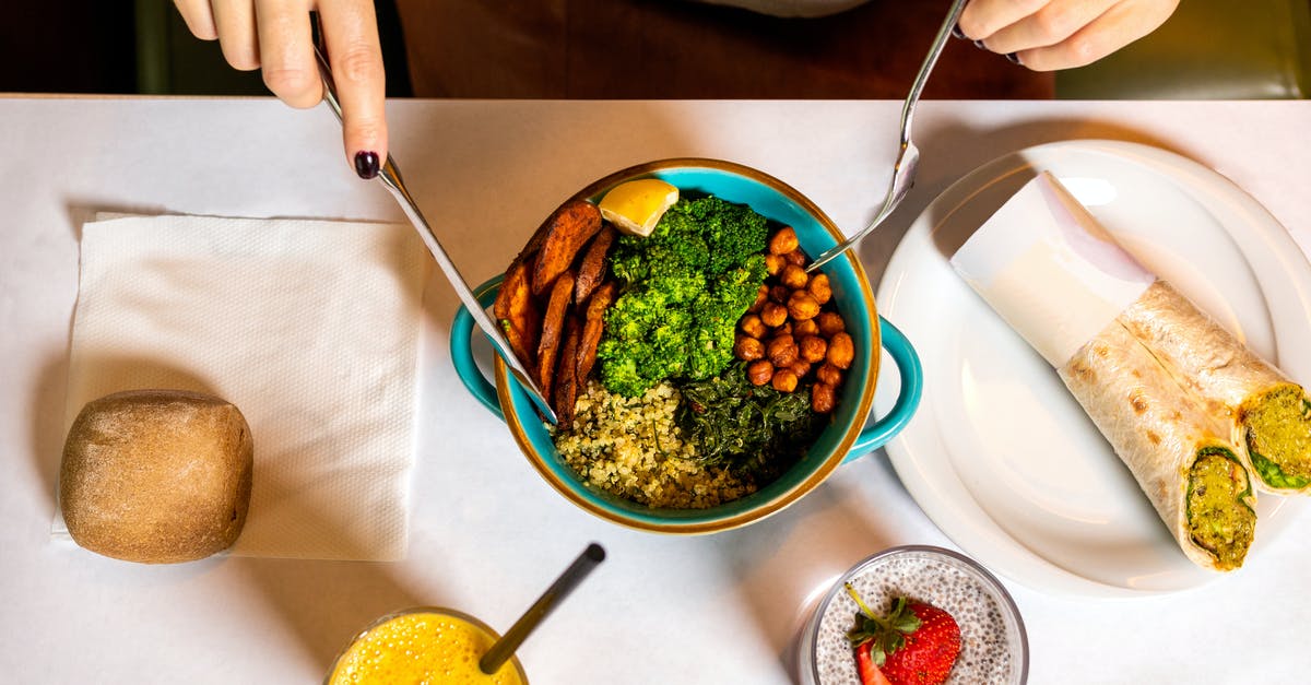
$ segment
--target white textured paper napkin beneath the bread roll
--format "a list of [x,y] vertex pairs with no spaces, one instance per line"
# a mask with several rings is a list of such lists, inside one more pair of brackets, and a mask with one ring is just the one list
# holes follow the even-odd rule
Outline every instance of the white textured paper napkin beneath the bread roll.
[[427,261],[396,224],[88,223],[66,426],[121,390],[215,394],[254,438],[232,554],[402,559]]

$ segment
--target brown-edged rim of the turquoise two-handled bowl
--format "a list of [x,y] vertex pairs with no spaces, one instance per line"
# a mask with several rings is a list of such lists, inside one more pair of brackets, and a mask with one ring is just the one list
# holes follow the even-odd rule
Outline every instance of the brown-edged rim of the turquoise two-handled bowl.
[[[582,190],[574,193],[564,202],[572,202],[576,199],[587,199],[599,194],[602,190],[606,190],[619,184],[620,181],[650,177],[654,176],[657,172],[679,169],[679,168],[726,172],[730,175],[745,177],[749,181],[755,181],[758,184],[762,184],[772,190],[779,192],[789,201],[796,202],[806,214],[813,217],[817,220],[817,223],[819,223],[819,226],[822,226],[830,234],[830,236],[835,240],[835,244],[846,240],[846,235],[838,228],[838,226],[832,222],[832,219],[829,218],[829,215],[825,214],[818,205],[812,202],[810,198],[804,196],[796,188],[753,167],[721,159],[669,157],[669,159],[635,164],[632,167],[627,167],[614,173],[603,176],[602,178],[585,186]],[[561,205],[564,202],[561,202]],[[680,520],[646,521],[641,518],[633,518],[623,512],[611,510],[608,508],[598,505],[597,503],[589,500],[587,497],[583,497],[579,492],[574,489],[576,487],[586,488],[587,487],[586,484],[583,484],[581,480],[577,479],[572,484],[565,483],[561,478],[558,478],[558,475],[552,468],[549,468],[544,463],[544,457],[538,454],[536,449],[532,445],[532,441],[528,440],[526,428],[520,421],[518,412],[514,408],[515,404],[511,396],[511,383],[510,383],[511,378],[506,371],[505,360],[502,360],[497,354],[493,356],[494,357],[493,373],[496,377],[497,399],[501,403],[501,408],[505,415],[505,423],[510,428],[510,433],[514,436],[514,441],[519,445],[519,451],[524,454],[524,457],[528,459],[528,463],[531,463],[532,467],[538,471],[538,475],[540,475],[547,483],[551,484],[551,487],[556,492],[564,495],[565,499],[572,501],[574,505],[610,522],[619,524],[624,528],[635,530],[645,530],[645,531],[666,533],[676,535],[718,533],[759,521],[792,505],[793,503],[800,500],[801,496],[806,495],[808,492],[814,489],[818,484],[821,484],[825,479],[827,479],[829,475],[847,457],[847,453],[851,450],[851,446],[856,442],[860,430],[864,428],[864,424],[869,417],[869,412],[873,407],[874,386],[877,384],[880,377],[880,366],[882,358],[882,352],[881,352],[882,336],[878,324],[878,311],[874,307],[873,289],[871,287],[869,277],[865,274],[864,266],[861,265],[860,260],[856,259],[855,251],[848,249],[842,255],[840,259],[846,260],[847,265],[852,269],[856,281],[860,283],[860,294],[861,298],[864,299],[865,311],[869,312],[869,329],[871,329],[871,344],[868,346],[869,377],[861,391],[856,412],[853,413],[856,419],[851,423],[851,425],[847,426],[847,432],[838,442],[838,445],[822,462],[819,462],[813,468],[810,474],[806,475],[806,478],[793,484],[788,489],[780,492],[777,496],[767,501],[763,501],[755,507],[734,512],[729,516],[722,516],[709,520],[694,520],[694,521],[680,521]],[[535,416],[532,419],[536,420]],[[730,504],[733,503],[725,503],[724,505],[730,505]],[[708,508],[705,510],[709,512],[713,509],[714,508]],[[658,512],[659,509],[652,508],[652,510]]]

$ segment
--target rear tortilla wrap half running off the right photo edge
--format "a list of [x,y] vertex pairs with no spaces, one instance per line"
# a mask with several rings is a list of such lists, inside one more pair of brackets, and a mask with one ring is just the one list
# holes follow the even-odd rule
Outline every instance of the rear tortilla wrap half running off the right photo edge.
[[1230,421],[1257,488],[1311,493],[1311,400],[1165,281],[1118,316],[1179,379]]

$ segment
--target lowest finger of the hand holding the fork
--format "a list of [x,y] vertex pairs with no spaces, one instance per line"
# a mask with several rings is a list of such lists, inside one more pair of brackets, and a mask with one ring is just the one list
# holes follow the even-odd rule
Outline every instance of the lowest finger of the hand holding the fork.
[[[1024,50],[1020,62],[1034,71],[1054,71],[1091,64],[1147,35],[1169,18],[1177,3],[1156,3],[1139,12],[1135,3],[1118,3],[1057,45]],[[1168,9],[1165,8],[1168,5]]]

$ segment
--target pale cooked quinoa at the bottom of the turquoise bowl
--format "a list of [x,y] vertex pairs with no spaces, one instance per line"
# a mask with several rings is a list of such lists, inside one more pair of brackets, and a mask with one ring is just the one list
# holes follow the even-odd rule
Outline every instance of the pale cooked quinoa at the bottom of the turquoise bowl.
[[556,449],[589,484],[649,507],[704,509],[754,492],[754,483],[697,461],[674,421],[679,402],[669,383],[624,398],[589,381]]

